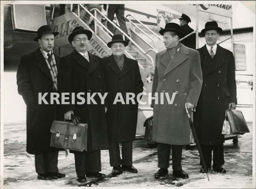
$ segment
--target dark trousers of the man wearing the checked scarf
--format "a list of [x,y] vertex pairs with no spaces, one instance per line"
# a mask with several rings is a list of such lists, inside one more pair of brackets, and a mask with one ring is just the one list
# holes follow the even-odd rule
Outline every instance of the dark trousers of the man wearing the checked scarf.
[[58,154],[59,151],[35,155],[35,172],[38,174],[58,172]]

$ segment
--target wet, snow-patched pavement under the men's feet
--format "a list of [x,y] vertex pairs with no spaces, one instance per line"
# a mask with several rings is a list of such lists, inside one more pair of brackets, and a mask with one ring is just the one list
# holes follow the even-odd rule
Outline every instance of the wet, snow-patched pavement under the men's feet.
[[[239,138],[237,145],[232,140],[224,143],[224,168],[226,174],[211,171],[210,181],[206,174],[199,173],[199,154],[195,145],[191,149],[183,149],[182,166],[189,174],[188,179],[176,179],[169,175],[160,180],[154,179],[157,168],[156,148],[150,148],[141,138],[133,143],[133,165],[138,173],[124,172],[117,177],[111,177],[108,150],[101,151],[102,173],[108,178],[97,180],[87,178],[87,183],[78,183],[74,167],[74,155],[65,157],[65,152],[59,152],[59,171],[66,177],[58,180],[37,180],[34,157],[26,153],[25,122],[4,125],[4,186],[11,188],[74,188],[78,186],[95,187],[187,187],[187,188],[255,188],[255,174],[252,178],[252,123],[249,123],[250,133]],[[255,132],[255,131],[254,131]],[[255,152],[255,151],[254,151]],[[254,159],[255,161],[255,159]],[[171,160],[170,160],[171,163]],[[255,164],[255,162],[254,162]],[[254,167],[255,171],[255,167]],[[254,182],[254,185],[252,184]]]

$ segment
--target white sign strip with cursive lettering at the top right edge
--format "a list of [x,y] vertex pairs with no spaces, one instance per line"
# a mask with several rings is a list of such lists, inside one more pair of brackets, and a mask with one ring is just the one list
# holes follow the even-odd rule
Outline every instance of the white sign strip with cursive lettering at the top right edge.
[[232,18],[232,5],[226,4],[199,4],[199,11]]

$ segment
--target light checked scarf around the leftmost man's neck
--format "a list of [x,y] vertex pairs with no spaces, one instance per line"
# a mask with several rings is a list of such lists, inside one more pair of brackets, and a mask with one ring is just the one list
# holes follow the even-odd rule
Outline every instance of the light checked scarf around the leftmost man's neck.
[[58,87],[57,87],[57,74],[58,74],[58,70],[57,70],[57,66],[56,66],[56,61],[55,61],[53,50],[51,50],[51,52],[50,52],[50,55],[52,57],[52,61],[51,62],[48,62],[48,60],[47,60],[48,57],[45,56],[45,53],[43,52],[41,47],[40,47],[40,50],[41,50],[43,56],[45,57],[46,64],[48,66],[48,69],[50,70],[50,74],[52,76],[52,81],[53,81],[53,89],[55,91],[58,91]]

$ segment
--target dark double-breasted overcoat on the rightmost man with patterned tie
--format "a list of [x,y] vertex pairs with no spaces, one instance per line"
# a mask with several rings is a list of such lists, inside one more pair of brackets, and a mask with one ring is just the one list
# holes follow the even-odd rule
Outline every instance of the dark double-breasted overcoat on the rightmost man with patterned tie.
[[201,144],[220,145],[225,111],[230,102],[237,103],[235,61],[232,52],[217,45],[211,58],[206,45],[198,49],[201,57],[203,85],[194,122]]

